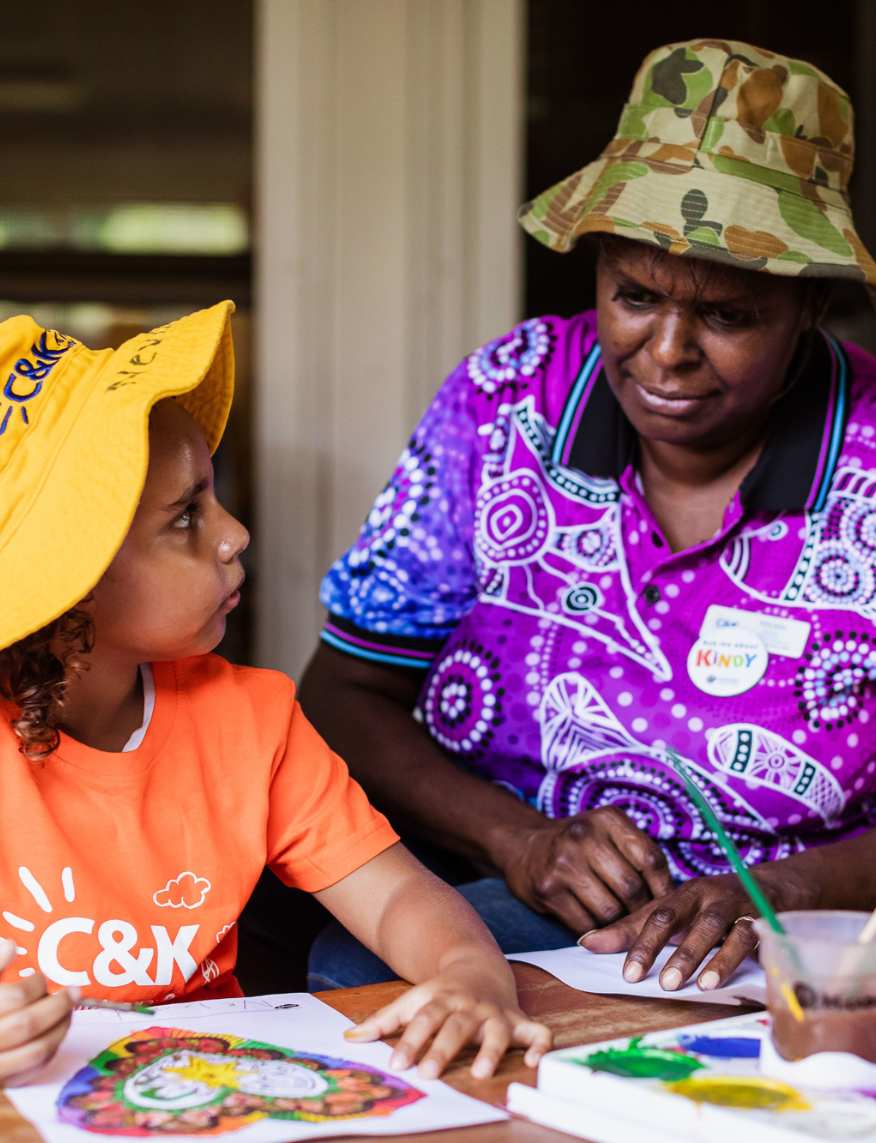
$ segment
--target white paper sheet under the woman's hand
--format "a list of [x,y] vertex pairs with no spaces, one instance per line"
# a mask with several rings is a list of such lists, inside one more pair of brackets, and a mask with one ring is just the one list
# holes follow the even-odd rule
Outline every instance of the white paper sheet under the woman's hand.
[[740,1004],[752,1000],[766,1002],[766,977],[764,970],[747,958],[722,989],[702,992],[694,982],[676,992],[666,992],[658,980],[663,965],[675,952],[674,948],[659,953],[654,967],[644,981],[628,984],[623,978],[626,952],[589,952],[573,944],[570,949],[554,949],[548,952],[512,952],[509,960],[523,960],[527,965],[543,968],[558,981],[580,992],[600,992],[624,997],[661,997],[664,1000],[702,1000],[708,1004]]

